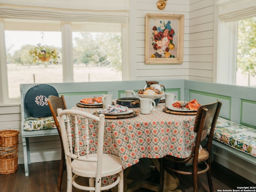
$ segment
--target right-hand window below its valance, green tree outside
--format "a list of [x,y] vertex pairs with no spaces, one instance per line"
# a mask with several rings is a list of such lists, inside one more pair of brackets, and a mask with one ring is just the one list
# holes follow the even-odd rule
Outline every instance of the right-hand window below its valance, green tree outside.
[[220,21],[217,82],[256,86],[255,21],[256,17]]

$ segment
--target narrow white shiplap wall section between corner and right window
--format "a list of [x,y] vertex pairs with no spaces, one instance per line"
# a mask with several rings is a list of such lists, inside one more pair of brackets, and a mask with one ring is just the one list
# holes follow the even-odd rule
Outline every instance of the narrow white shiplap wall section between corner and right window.
[[212,82],[214,0],[190,0],[189,80]]

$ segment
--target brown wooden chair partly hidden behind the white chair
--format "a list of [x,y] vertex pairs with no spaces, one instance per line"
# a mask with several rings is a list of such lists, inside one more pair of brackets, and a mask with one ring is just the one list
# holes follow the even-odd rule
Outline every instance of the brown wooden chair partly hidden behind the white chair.
[[62,183],[62,177],[63,177],[63,171],[64,171],[64,165],[65,165],[65,153],[63,148],[63,142],[61,137],[61,131],[60,131],[60,124],[58,122],[57,118],[57,109],[67,109],[66,102],[64,99],[64,96],[56,97],[53,95],[50,95],[48,97],[48,105],[50,107],[50,110],[52,112],[52,117],[54,119],[54,122],[56,124],[56,128],[58,130],[59,136],[60,136],[60,144],[61,144],[61,160],[60,160],[60,175],[58,179],[58,191],[61,189],[61,183]]

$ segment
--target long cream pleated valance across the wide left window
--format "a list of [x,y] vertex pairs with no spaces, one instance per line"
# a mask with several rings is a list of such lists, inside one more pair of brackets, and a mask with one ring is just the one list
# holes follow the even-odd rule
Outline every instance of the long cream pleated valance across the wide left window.
[[127,23],[128,10],[83,10],[0,4],[0,18]]

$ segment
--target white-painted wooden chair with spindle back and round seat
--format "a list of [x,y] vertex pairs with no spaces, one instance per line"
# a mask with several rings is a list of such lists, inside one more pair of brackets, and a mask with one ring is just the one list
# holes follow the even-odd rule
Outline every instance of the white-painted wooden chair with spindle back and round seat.
[[[67,169],[67,192],[72,192],[72,185],[80,190],[100,192],[118,186],[118,192],[124,190],[124,175],[122,163],[118,156],[103,153],[104,122],[105,116],[95,116],[79,110],[58,109],[62,142],[64,146]],[[91,154],[89,128],[91,124],[98,126],[98,146],[96,153]],[[71,129],[74,132],[71,132]],[[81,131],[83,130],[83,131]],[[85,155],[80,156],[79,133],[85,133]],[[73,152],[74,148],[74,152]],[[74,175],[74,176],[72,176]],[[116,176],[110,185],[102,184],[102,177]],[[76,178],[89,179],[89,186],[82,186],[76,182]],[[95,182],[94,182],[95,180]]]

